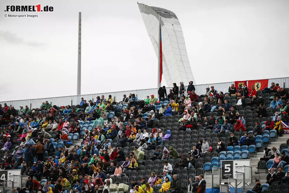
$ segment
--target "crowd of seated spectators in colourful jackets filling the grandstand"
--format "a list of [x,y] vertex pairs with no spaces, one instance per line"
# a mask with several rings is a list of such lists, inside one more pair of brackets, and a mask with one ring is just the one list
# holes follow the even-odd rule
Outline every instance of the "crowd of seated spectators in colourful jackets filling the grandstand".
[[[262,119],[265,129],[275,129],[282,136],[280,122],[289,121],[288,93],[273,84],[262,92],[257,92],[254,86],[249,90],[244,85],[235,88],[232,84],[223,93],[211,86],[203,95],[197,95],[191,81],[187,87],[183,82],[180,87],[174,83],[168,93],[165,87],[160,87],[158,98],[150,95],[138,99],[132,93],[114,101],[111,95],[108,98],[102,95],[95,102],[82,98],[76,106],[57,107],[46,101],[39,108],[21,106],[19,110],[0,104],[3,152],[0,170],[22,169],[29,176],[26,192],[110,192],[112,179],[144,170],[148,160],[160,160],[164,161],[159,168],[163,176],[154,171],[149,178],[143,176],[138,181],[135,176],[126,182],[136,193],[152,193],[155,188],[163,193],[178,193],[183,186],[173,169],[195,168],[196,160],[206,152],[220,153],[227,146],[254,145],[254,137],[263,129]],[[114,116],[109,117],[109,113]],[[248,122],[252,118],[257,119]],[[83,130],[86,121],[92,128]],[[191,135],[196,144],[189,142],[191,149],[180,153],[173,139],[180,133],[194,131],[208,131],[218,137],[217,141],[213,144],[204,134],[197,135],[198,138]],[[68,134],[75,133],[83,141],[81,146],[70,147]],[[228,140],[224,138],[227,134]],[[55,148],[54,142],[64,145]],[[279,165],[276,167],[282,169]],[[42,186],[41,179],[47,180]],[[188,179],[188,183],[196,192],[206,189],[202,174]]]

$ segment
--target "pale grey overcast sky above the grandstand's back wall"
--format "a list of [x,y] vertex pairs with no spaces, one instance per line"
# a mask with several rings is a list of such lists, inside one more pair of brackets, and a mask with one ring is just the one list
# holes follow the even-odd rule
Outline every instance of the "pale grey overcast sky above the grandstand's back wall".
[[[78,12],[81,94],[157,86],[157,57],[137,1],[45,2],[53,12],[9,18],[6,5],[40,1],[0,1],[0,101],[76,95]],[[196,84],[288,77],[287,0],[139,3],[177,15]]]

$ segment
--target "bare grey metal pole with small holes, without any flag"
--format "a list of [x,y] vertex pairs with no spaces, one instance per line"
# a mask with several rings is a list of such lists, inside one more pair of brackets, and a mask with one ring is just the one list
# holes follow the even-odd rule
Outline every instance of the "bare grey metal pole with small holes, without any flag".
[[77,95],[81,94],[81,12],[78,13]]

